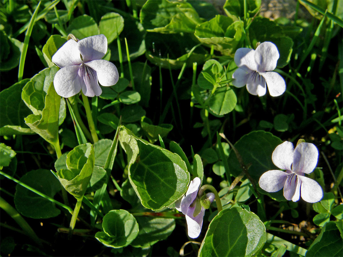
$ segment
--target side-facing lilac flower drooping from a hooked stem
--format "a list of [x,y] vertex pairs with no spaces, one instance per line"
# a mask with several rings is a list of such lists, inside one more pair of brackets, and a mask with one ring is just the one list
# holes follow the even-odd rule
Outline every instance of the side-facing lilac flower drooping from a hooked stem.
[[[201,180],[198,177],[194,178],[189,183],[186,195],[175,203],[175,208],[184,213],[186,216],[188,236],[191,238],[196,238],[200,235],[205,214],[205,208],[201,206],[200,213],[196,217],[193,216],[194,209],[196,209],[196,204],[200,204],[200,199],[197,198],[200,184]],[[206,198],[210,201],[210,203],[212,203],[214,200],[214,194],[207,193]],[[196,203],[194,200],[198,202]]]

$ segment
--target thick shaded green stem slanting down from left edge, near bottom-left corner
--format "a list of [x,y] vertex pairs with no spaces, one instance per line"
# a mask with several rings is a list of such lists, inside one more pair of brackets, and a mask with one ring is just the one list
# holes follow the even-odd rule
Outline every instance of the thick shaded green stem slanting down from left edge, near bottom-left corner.
[[29,236],[33,241],[35,241],[38,245],[42,246],[42,242],[40,241],[39,237],[30,227],[30,225],[24,220],[24,218],[14,209],[7,201],[5,201],[2,197],[0,197],[0,208],[3,209],[15,222],[24,230],[25,234]]

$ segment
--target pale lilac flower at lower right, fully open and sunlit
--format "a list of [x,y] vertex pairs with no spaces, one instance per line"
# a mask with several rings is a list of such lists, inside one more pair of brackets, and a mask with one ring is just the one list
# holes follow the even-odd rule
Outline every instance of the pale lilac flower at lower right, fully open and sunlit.
[[267,192],[276,192],[283,187],[287,200],[298,201],[303,198],[309,203],[320,201],[323,190],[320,185],[305,176],[317,166],[318,149],[314,144],[300,143],[293,148],[291,142],[278,145],[273,151],[274,164],[285,170],[269,170],[262,174],[259,184]]

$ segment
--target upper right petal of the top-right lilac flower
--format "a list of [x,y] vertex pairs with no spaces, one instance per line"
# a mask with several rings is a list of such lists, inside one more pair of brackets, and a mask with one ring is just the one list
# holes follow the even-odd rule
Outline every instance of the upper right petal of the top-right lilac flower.
[[263,42],[255,50],[256,71],[266,72],[276,68],[280,54],[272,42]]

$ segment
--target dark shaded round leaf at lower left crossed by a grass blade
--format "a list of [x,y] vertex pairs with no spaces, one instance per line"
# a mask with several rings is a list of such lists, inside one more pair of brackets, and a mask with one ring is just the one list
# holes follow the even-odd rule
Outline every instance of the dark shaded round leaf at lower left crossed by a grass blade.
[[[49,170],[32,170],[20,181],[52,198],[61,190],[60,182]],[[14,204],[22,215],[34,219],[48,219],[61,213],[54,203],[19,184],[16,185]]]

